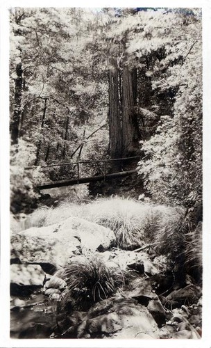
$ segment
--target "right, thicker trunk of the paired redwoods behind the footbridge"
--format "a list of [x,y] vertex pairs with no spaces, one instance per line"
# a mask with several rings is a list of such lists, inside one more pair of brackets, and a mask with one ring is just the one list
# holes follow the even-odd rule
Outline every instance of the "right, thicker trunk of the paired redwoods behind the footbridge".
[[137,71],[130,68],[126,53],[123,61],[122,72],[122,155],[129,157],[136,155],[139,150],[139,128],[135,111],[137,99]]

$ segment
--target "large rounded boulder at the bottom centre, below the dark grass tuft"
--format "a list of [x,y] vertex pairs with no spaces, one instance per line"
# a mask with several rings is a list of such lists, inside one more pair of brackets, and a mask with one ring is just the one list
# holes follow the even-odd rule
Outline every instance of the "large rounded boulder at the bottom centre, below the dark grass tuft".
[[[71,317],[75,319],[74,313]],[[133,299],[111,297],[92,306],[83,321],[79,317],[71,325],[71,320],[63,338],[159,338],[155,320]]]

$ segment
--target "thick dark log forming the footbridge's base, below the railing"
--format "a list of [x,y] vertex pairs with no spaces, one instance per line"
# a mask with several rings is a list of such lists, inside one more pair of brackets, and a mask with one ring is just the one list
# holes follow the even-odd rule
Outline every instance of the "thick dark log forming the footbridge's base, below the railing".
[[131,175],[133,173],[137,173],[137,170],[134,169],[133,171],[124,171],[124,172],[119,172],[119,173],[97,175],[97,176],[92,176],[92,177],[78,177],[76,179],[67,179],[67,180],[60,180],[60,181],[55,181],[55,182],[47,182],[46,184],[37,185],[37,189],[44,190],[44,189],[53,189],[54,187],[64,187],[64,186],[71,186],[71,185],[76,185],[76,184],[87,184],[89,182],[111,180],[111,179],[114,179],[115,177],[124,177],[127,175]]

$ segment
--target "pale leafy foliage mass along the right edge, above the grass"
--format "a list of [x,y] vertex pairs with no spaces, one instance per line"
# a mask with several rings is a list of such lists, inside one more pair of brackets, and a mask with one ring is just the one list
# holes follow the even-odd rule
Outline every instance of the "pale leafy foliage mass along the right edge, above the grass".
[[140,173],[154,200],[187,206],[200,201],[202,193],[202,41],[198,15],[175,15],[177,22],[171,22],[169,39],[174,45],[164,48],[160,61],[164,71],[153,86],[167,95],[168,90],[175,90],[174,105],[168,116],[160,117],[151,139],[142,143],[146,159],[140,161]]

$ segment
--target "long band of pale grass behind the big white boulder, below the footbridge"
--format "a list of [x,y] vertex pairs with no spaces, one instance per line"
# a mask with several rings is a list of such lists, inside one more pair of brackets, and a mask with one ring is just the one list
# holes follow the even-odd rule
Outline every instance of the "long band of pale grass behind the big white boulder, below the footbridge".
[[[70,216],[97,223],[115,232],[115,246],[133,249],[144,242],[158,244],[165,255],[176,250],[183,234],[184,209],[150,205],[126,198],[101,198],[90,203],[61,203],[55,208],[37,209],[28,218],[28,227],[49,226]],[[166,247],[167,246],[167,247]]]

